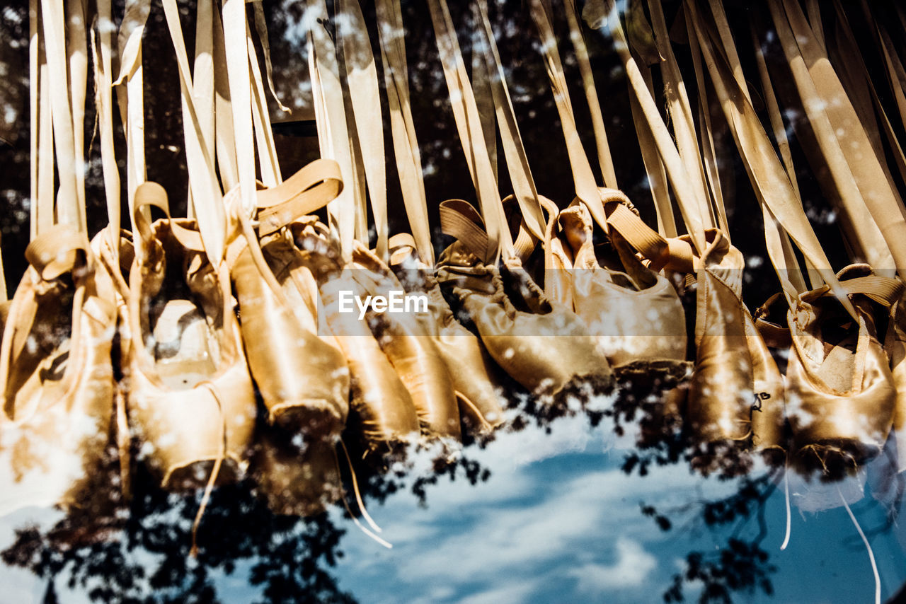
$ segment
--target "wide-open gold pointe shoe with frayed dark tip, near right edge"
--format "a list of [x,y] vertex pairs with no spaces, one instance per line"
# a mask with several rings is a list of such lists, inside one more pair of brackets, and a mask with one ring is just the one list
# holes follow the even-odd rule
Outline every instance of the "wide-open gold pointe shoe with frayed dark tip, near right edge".
[[[780,294],[757,312],[759,331],[786,352],[786,418],[793,437],[783,445],[806,473],[853,470],[877,455],[891,429],[900,426],[897,408],[906,377],[898,326],[901,283],[876,276],[867,264],[852,264],[836,276],[858,322],[827,286],[799,294],[795,312],[784,304],[786,326],[772,312],[783,300]],[[880,309],[887,307],[892,309],[882,348],[875,326],[886,319]]]

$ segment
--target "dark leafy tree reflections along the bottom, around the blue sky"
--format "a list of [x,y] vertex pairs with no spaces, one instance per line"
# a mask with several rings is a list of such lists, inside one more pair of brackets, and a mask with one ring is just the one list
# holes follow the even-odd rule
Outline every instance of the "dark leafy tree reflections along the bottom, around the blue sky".
[[[621,429],[630,429],[626,417],[653,427],[658,423],[651,410],[658,410],[656,388],[639,397],[623,390],[612,408],[602,410],[600,397],[580,397],[573,393],[558,417],[532,415],[525,409],[528,398],[514,389],[510,401],[511,418],[502,433],[514,433],[531,424],[553,427],[561,417],[585,417],[589,425],[613,417]],[[641,402],[640,402],[641,401]],[[620,417],[622,415],[622,420]],[[679,432],[664,430],[669,437],[652,439],[627,453],[622,471],[631,475],[645,473],[648,464],[682,464],[696,448]],[[601,428],[599,428],[601,429]],[[429,469],[419,470],[412,459],[363,459],[355,447],[355,437],[344,436],[355,460],[362,499],[367,506],[387,501],[394,494],[409,490],[419,504],[429,507],[431,487],[440,480],[460,480],[475,485],[492,479],[492,467],[482,465],[472,452],[487,446],[493,436],[471,439],[458,455],[435,452]],[[651,456],[651,451],[660,451]],[[106,468],[108,492],[118,480],[118,466]],[[103,475],[103,473],[99,473]],[[348,471],[342,473],[344,489],[352,503],[352,482]],[[691,582],[703,584],[700,601],[731,601],[734,592],[762,590],[772,593],[770,575],[776,567],[760,548],[765,537],[762,528],[753,538],[740,536],[750,521],[763,525],[764,506],[774,490],[771,475],[747,476],[737,492],[726,498],[694,504],[699,523],[705,526],[733,524],[736,530],[718,551],[691,551],[686,570],[674,577],[664,594],[666,601],[681,601],[683,587]],[[16,530],[14,542],[2,552],[5,564],[34,572],[47,580],[47,599],[54,601],[57,581],[68,589],[83,590],[95,602],[219,602],[236,596],[224,590],[224,576],[238,575],[257,593],[257,601],[268,602],[355,602],[353,594],[338,584],[334,572],[343,557],[342,536],[331,514],[309,517],[271,512],[265,498],[258,496],[254,480],[217,487],[207,505],[198,530],[198,556],[189,555],[191,525],[198,512],[200,492],[170,494],[161,490],[153,476],[139,464],[132,480],[129,503],[111,502],[103,513],[72,512],[47,530],[24,526]],[[691,507],[691,505],[690,505]],[[661,530],[675,530],[680,518],[690,509],[660,511],[641,506]],[[335,516],[333,516],[335,517]],[[375,547],[378,547],[375,545]],[[242,573],[247,573],[243,577]],[[59,587],[62,587],[62,583]]]

